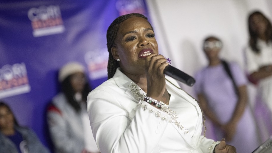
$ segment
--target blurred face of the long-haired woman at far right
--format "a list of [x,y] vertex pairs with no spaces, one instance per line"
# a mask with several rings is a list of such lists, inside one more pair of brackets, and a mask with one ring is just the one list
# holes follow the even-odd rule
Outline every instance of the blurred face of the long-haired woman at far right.
[[250,21],[251,29],[258,35],[262,36],[266,34],[267,21],[266,19],[260,15],[253,15]]

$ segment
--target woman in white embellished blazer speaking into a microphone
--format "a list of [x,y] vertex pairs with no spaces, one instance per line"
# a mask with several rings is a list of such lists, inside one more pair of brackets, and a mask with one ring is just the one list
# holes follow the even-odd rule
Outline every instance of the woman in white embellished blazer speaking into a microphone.
[[101,153],[236,153],[201,136],[198,102],[163,74],[154,31],[142,14],[115,19],[107,31],[108,80],[88,95],[87,107]]

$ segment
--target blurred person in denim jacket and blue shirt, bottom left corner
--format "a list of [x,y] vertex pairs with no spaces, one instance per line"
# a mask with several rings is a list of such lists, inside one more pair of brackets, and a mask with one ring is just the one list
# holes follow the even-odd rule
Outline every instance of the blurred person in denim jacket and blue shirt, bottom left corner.
[[0,152],[49,153],[34,131],[17,123],[13,112],[4,102],[0,102]]

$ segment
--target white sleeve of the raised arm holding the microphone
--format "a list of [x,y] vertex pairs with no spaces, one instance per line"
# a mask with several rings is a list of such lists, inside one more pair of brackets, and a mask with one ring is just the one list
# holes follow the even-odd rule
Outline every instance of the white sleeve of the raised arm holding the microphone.
[[[136,110],[132,120],[129,117],[131,112],[119,104],[121,100],[128,100],[129,107]],[[147,102],[142,105],[134,103],[125,96],[103,90],[93,90],[89,94],[87,106],[90,124],[101,153],[152,152],[158,144],[170,117]],[[159,116],[156,114],[158,111]],[[158,129],[158,126],[161,128]]]

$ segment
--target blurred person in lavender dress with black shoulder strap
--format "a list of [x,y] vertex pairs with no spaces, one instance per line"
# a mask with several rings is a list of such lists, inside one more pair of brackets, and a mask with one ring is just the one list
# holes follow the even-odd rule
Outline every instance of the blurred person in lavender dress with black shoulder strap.
[[196,73],[194,92],[212,122],[214,139],[225,137],[237,152],[252,152],[258,147],[258,138],[247,102],[246,76],[236,63],[218,56],[221,48],[217,37],[204,40],[209,65]]

